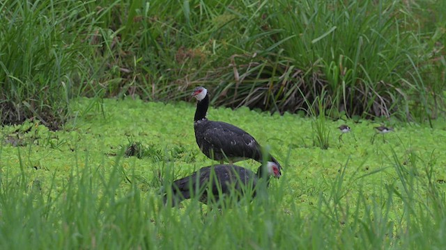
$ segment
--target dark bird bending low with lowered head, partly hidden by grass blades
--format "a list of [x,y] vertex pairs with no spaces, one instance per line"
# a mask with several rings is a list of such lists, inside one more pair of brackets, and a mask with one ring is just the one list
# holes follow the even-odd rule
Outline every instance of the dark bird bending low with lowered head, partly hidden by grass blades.
[[[172,183],[171,205],[176,206],[181,201],[191,198],[197,198],[202,203],[208,204],[208,201],[220,201],[223,197],[229,196],[231,192],[240,200],[244,191],[247,191],[247,188],[250,188],[251,185],[252,197],[255,197],[255,188],[260,178],[266,178],[268,186],[271,176],[275,178],[281,176],[279,166],[272,162],[268,162],[266,166],[260,166],[256,174],[249,169],[236,165],[202,167],[190,176],[180,178]],[[167,201],[168,196],[164,194],[164,204],[167,204]]]

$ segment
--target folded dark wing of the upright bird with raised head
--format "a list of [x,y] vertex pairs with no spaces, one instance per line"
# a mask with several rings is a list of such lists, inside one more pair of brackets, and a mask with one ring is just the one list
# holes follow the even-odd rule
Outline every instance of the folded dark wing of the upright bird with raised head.
[[232,124],[209,121],[201,136],[214,150],[224,152],[228,158],[247,157],[262,160],[259,143],[252,135]]

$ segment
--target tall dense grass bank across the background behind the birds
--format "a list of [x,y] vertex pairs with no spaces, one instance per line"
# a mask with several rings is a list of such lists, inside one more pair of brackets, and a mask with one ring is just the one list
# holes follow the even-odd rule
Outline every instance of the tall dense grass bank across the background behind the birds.
[[0,3],[0,121],[56,129],[72,97],[184,99],[422,122],[444,108],[444,1]]

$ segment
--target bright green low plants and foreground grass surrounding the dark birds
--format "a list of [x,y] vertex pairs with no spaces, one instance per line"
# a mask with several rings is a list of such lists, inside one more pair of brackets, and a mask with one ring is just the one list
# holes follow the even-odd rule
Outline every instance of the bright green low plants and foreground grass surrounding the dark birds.
[[[268,196],[235,208],[160,206],[158,188],[213,162],[194,142],[192,103],[83,99],[65,131],[2,128],[2,249],[441,249],[446,227],[445,125],[373,126],[313,147],[312,121],[242,108],[210,119],[245,128],[284,166]],[[25,132],[27,131],[27,132]],[[11,138],[12,136],[12,138]],[[17,138],[18,137],[18,138]],[[21,147],[13,147],[11,142]],[[356,141],[355,141],[356,139]],[[130,142],[141,159],[123,158]],[[255,169],[256,163],[239,165]]]

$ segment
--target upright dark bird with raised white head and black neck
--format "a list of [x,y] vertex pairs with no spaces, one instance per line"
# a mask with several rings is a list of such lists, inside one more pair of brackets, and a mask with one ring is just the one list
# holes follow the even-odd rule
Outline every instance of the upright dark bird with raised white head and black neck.
[[[220,160],[221,164],[224,161],[233,164],[247,158],[252,158],[259,163],[263,162],[261,146],[252,135],[226,122],[213,122],[206,118],[209,107],[209,95],[206,88],[195,88],[192,97],[198,100],[194,117],[195,139],[208,158]],[[271,160],[279,167],[279,170],[281,169],[280,164],[271,155],[268,155],[266,160]]]

